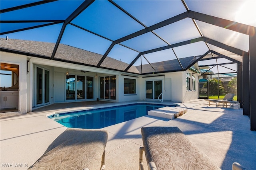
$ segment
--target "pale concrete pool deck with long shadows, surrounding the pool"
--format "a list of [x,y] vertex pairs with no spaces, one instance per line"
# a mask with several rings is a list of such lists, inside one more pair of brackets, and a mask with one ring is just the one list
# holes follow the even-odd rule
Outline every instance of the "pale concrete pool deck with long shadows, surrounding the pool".
[[[28,169],[42,156],[52,141],[65,131],[66,127],[45,115],[55,111],[116,104],[123,103],[88,102],[86,106],[84,102],[54,104],[26,115],[1,117],[0,169]],[[107,170],[138,169],[139,147],[143,146],[140,128],[145,126],[178,127],[223,170],[231,170],[233,162],[239,162],[248,170],[256,169],[256,131],[250,131],[250,118],[242,115],[242,109],[237,106],[233,109],[208,106],[207,101],[200,99],[163,104],[179,104],[179,107],[188,109],[188,112],[173,120],[147,115],[103,128],[108,130]],[[6,167],[16,164],[23,167]],[[146,167],[144,156],[144,168]]]

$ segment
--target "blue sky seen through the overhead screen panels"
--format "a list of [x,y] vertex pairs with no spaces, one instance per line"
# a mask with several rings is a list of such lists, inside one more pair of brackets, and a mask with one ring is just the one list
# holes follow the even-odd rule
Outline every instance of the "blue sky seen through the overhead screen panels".
[[[1,9],[10,8],[16,5],[22,5],[27,2],[35,1],[0,1]],[[21,9],[12,12],[2,13],[0,16],[1,20],[65,20],[68,15],[70,15],[72,11],[74,11],[82,2],[83,1],[81,0],[51,2],[40,6],[33,6],[28,9]],[[132,16],[137,18],[139,21],[141,21],[147,27],[171,18],[173,16],[176,16],[178,14],[181,14],[183,12],[186,12],[186,8],[180,0],[115,0],[114,2],[121,6],[124,10],[129,12]],[[240,20],[241,22],[250,23],[245,19],[243,21],[241,20],[241,18],[238,18],[237,16],[240,16],[238,15],[238,12],[241,12],[241,14],[244,15],[244,18],[250,18],[250,20],[255,19],[255,16],[253,15],[253,12],[255,12],[255,10],[254,8],[250,7],[255,4],[254,0],[249,1],[251,4],[248,2],[244,2],[243,4],[248,3],[247,7],[244,7],[243,4],[239,4],[240,2],[238,1],[220,1],[216,3],[216,1],[189,0],[185,2],[190,10],[202,12],[212,16],[222,17],[228,20]],[[245,12],[248,10],[241,9],[242,7],[245,9],[249,8],[249,11],[251,11],[251,13],[248,14],[247,12]],[[227,29],[218,28],[218,33],[223,32],[221,36],[218,37],[218,34],[215,35],[214,31],[212,31],[211,34],[207,34],[210,31],[207,31],[207,28],[209,27],[207,27],[207,25],[205,26],[204,23],[200,23],[200,21],[196,22],[197,24],[202,26],[203,35],[205,34],[208,37],[211,36],[211,39],[215,39],[217,41],[224,41],[230,39],[230,37],[238,37],[238,40],[235,42],[230,39],[229,41],[222,43],[226,43],[236,48],[237,46],[240,47],[242,45],[242,48],[244,50],[247,49],[247,46],[244,45],[244,43],[241,43],[244,41],[246,42],[246,40],[248,39],[246,35],[240,35],[240,33],[234,32],[232,32],[232,34],[228,34],[225,33]],[[84,12],[82,12],[77,18],[75,18],[72,23],[79,25],[80,27],[84,27],[89,31],[94,31],[95,33],[103,37],[98,37],[97,35],[94,35],[90,32],[78,29],[73,25],[67,25],[66,30],[64,31],[64,34],[62,36],[61,43],[92,51],[94,53],[99,53],[102,55],[106,52],[112,41],[145,28],[143,25],[121,12],[118,8],[116,8],[113,4],[106,0],[98,0],[96,2],[93,2],[86,10],[84,10]],[[39,23],[30,23],[31,26],[37,24]],[[250,24],[254,25],[255,20],[254,23]],[[24,23],[1,23],[1,32],[5,29],[7,30],[10,28],[22,28],[24,27],[24,25]],[[10,33],[8,35],[1,35],[1,37],[5,38],[6,36],[8,36],[10,39],[24,39],[55,43],[58,38],[58,34],[60,33],[61,27],[62,24],[56,24],[47,27],[40,27],[36,29]],[[186,18],[171,25],[156,29],[154,30],[154,32],[162,37],[169,44],[200,37],[199,32],[197,31],[192,19],[190,18]],[[134,57],[138,55],[137,51],[142,52],[149,49],[166,46],[168,45],[168,43],[165,43],[156,35],[149,32],[121,43],[122,45],[129,46],[136,51],[128,49],[122,45],[115,45],[112,51],[110,51],[110,53],[108,54],[108,56],[126,63],[130,63],[134,59]],[[192,43],[190,45],[176,47],[173,50],[178,58],[182,58],[194,55],[203,55],[206,51],[208,51],[208,47],[205,43],[198,42]],[[148,60],[152,63],[176,58],[172,50],[150,53],[145,55],[145,57],[148,57]],[[140,64],[140,62],[135,63],[135,65],[138,64]]]

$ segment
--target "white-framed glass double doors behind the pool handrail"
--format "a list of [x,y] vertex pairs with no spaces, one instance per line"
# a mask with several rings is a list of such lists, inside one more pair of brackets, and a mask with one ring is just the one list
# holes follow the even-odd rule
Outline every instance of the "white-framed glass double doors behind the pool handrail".
[[[162,93],[162,80],[146,81],[146,99],[158,99],[158,96],[161,93]],[[162,99],[162,96],[160,96],[159,99]]]

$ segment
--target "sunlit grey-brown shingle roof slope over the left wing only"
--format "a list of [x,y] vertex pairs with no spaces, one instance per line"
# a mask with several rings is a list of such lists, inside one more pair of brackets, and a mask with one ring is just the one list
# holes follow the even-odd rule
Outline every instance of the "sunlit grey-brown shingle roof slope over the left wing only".
[[[1,48],[4,47],[6,49],[21,51],[24,53],[32,53],[50,58],[55,44],[19,39],[6,40],[1,38],[0,46]],[[102,55],[76,47],[71,47],[69,45],[60,44],[54,58],[96,66],[102,58]],[[101,64],[102,67],[106,68],[110,68],[110,66],[113,68],[114,66],[116,70],[124,70],[128,65],[129,64],[127,63],[112,59],[110,57],[106,57],[104,62]],[[135,66],[132,66],[131,71],[139,73]]]

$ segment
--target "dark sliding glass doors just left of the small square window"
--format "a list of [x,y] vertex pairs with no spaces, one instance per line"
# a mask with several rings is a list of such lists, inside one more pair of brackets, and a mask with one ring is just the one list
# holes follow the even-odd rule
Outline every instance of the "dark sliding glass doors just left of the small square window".
[[116,76],[100,77],[100,99],[116,100]]

